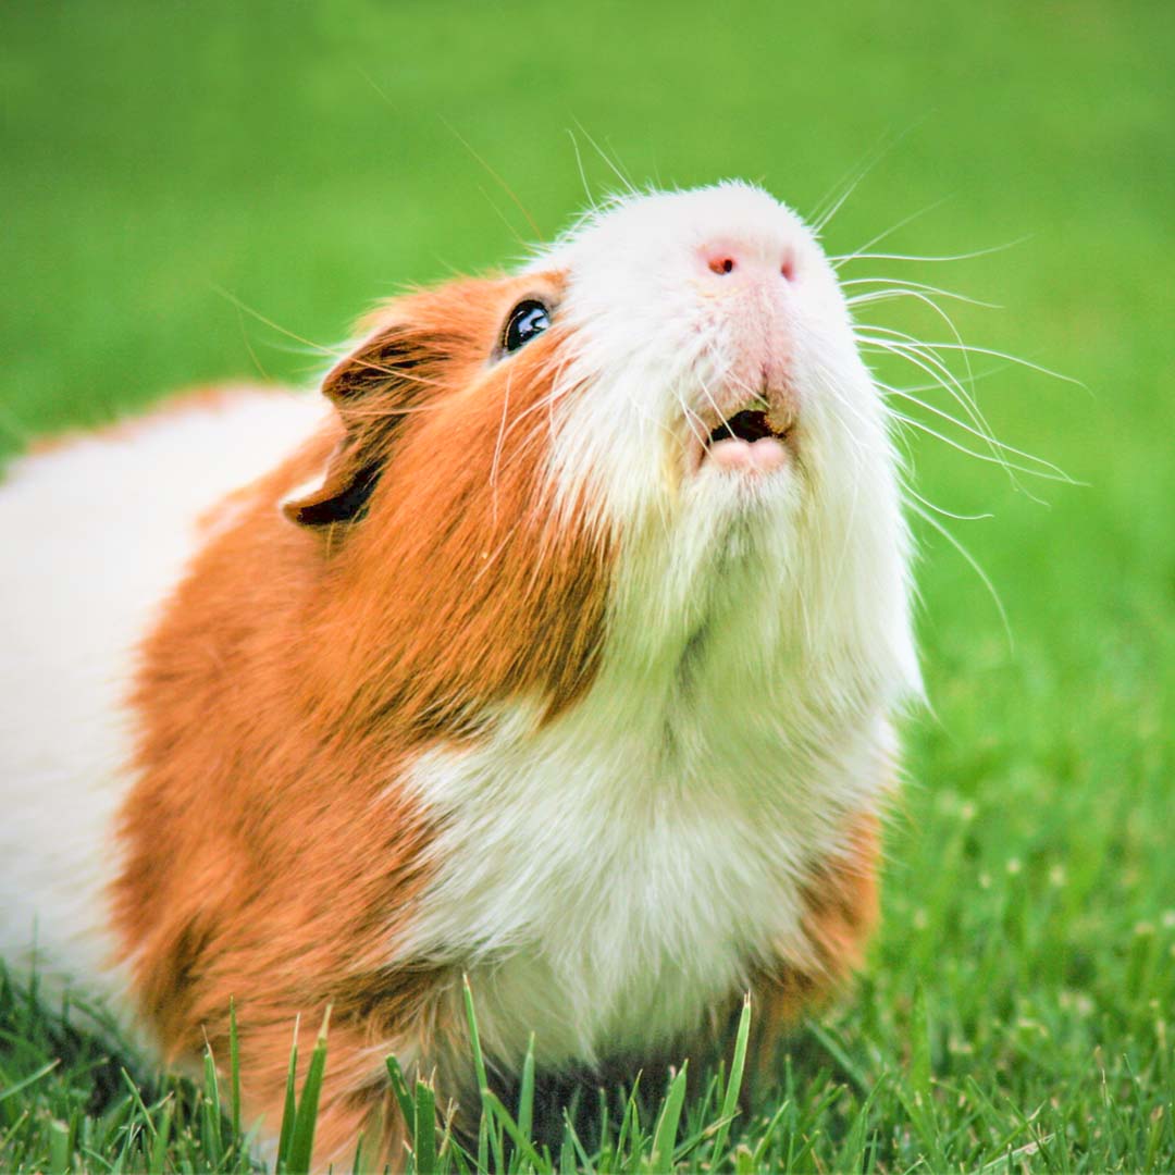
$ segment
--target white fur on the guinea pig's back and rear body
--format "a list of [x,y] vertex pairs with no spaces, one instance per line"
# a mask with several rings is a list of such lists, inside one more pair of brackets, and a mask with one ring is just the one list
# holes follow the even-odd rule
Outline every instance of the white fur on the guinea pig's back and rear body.
[[[321,401],[244,391],[13,463],[0,484],[0,955],[123,994],[105,889],[130,786],[134,652],[200,516],[290,451]],[[115,1000],[118,1002],[118,999]]]

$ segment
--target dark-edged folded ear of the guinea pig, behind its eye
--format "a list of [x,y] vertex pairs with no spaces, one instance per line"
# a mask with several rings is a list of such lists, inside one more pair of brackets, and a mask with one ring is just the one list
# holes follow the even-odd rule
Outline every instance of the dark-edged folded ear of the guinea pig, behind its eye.
[[436,352],[403,325],[387,327],[337,363],[323,395],[342,418],[344,435],[323,475],[297,486],[282,513],[300,526],[357,522],[367,511],[400,425],[436,384],[428,369]]

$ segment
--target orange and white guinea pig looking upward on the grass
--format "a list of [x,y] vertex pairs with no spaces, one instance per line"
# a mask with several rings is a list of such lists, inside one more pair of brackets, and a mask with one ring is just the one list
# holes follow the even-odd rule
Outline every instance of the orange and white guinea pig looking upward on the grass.
[[[753,1048],[859,962],[920,692],[887,410],[764,190],[617,197],[381,307],[322,397],[226,389],[16,461],[0,949],[168,1062],[240,1030],[316,1161],[384,1058],[496,1080]],[[767,1066],[770,1070],[770,1065]]]

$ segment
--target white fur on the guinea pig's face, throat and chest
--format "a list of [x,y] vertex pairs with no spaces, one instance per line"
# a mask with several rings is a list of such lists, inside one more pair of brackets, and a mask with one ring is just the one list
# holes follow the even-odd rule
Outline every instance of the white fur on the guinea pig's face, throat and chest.
[[[767,276],[699,264],[724,249]],[[920,684],[884,409],[794,214],[740,184],[632,197],[551,264],[573,327],[551,476],[620,544],[604,667],[548,728],[517,707],[488,745],[417,765],[445,831],[397,949],[474,966],[498,1055],[533,1029],[565,1063],[639,1056],[757,960],[810,958],[805,873],[879,810],[888,717]],[[797,461],[683,472],[691,412],[757,390],[740,369],[760,335],[786,351],[763,365],[794,383]]]

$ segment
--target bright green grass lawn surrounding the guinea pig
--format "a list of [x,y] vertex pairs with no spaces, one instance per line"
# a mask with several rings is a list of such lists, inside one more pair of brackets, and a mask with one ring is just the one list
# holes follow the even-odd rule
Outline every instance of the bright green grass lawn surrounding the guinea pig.
[[[1043,504],[909,434],[922,496],[995,516],[946,522],[1010,639],[920,525],[933,709],[906,728],[911,786],[855,992],[800,1027],[748,1117],[728,1121],[723,1074],[679,1102],[650,1073],[626,1119],[549,1159],[518,1141],[525,1107],[488,1102],[484,1154],[540,1170],[671,1153],[720,1170],[1175,1169],[1175,9],[26,2],[4,41],[8,454],[183,384],[311,377],[318,356],[282,331],[331,343],[377,295],[535,235],[495,174],[542,235],[564,223],[584,200],[572,135],[595,192],[616,176],[589,136],[638,180],[746,175],[803,212],[880,155],[832,253],[942,199],[884,251],[1028,234],[969,261],[845,270],[999,302],[949,304],[964,338],[1088,389],[972,357],[992,370],[975,389],[996,434],[1083,483],[1025,478]],[[914,304],[867,317],[951,337]],[[0,988],[0,1168],[247,1169],[229,1059],[196,1085],[163,1077],[86,1023]],[[427,1121],[429,1093],[403,1093]],[[479,1162],[431,1144],[455,1169]]]

